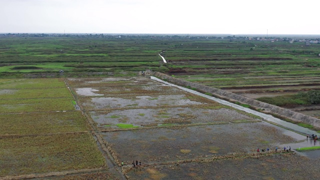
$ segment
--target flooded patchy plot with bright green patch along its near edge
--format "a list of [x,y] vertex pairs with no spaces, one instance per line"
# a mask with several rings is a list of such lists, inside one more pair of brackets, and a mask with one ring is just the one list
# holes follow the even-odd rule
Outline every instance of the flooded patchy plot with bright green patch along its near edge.
[[90,112],[92,119],[98,126],[104,124],[129,123],[133,125],[148,125],[150,123],[210,123],[230,122],[236,120],[258,120],[246,114],[228,108],[204,109],[191,107],[171,108],[139,108],[113,110],[109,113]]

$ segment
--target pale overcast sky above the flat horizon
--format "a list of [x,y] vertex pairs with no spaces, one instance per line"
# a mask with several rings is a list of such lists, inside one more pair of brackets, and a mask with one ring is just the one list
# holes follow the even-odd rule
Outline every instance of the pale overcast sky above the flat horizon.
[[320,34],[320,0],[0,0],[0,32]]

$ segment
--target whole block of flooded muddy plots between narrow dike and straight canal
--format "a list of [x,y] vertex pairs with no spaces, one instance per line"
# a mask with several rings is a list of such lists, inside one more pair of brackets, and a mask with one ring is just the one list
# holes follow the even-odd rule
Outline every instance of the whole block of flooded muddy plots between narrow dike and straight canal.
[[[312,161],[298,154],[274,153],[275,146],[301,143],[305,136],[147,78],[67,82],[115,163],[124,162],[122,173],[128,179],[276,179],[292,177],[291,166],[280,165],[300,158],[301,163]],[[255,158],[257,148],[272,153]],[[132,160],[141,160],[142,166],[132,168]],[[261,168],[255,169],[257,165]]]

